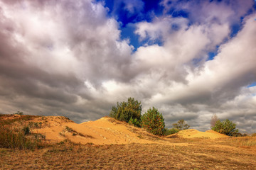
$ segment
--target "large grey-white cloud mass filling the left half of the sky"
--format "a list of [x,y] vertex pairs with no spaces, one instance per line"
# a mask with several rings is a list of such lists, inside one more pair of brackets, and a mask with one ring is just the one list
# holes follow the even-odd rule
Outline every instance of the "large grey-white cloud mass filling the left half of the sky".
[[119,39],[119,24],[101,4],[2,1],[0,24],[2,113],[99,117],[100,109],[87,108],[94,96],[85,81],[97,88],[106,79],[126,78],[132,47]]

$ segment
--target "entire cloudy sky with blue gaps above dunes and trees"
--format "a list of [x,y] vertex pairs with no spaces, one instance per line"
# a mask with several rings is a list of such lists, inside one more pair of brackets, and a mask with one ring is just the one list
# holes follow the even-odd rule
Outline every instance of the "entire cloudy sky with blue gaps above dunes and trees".
[[166,128],[256,132],[256,1],[0,0],[0,113],[109,115],[133,97]]

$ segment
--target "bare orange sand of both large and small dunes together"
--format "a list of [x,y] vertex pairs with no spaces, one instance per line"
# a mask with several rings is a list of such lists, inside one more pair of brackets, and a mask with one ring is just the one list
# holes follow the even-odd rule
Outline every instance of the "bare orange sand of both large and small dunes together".
[[[200,132],[198,130],[181,130],[180,132],[167,137],[156,137],[142,128],[135,128],[127,123],[103,117],[99,120],[85,123],[74,123],[65,117],[46,116],[37,118],[35,122],[43,121],[41,128],[36,128],[33,132],[46,135],[49,142],[60,142],[70,140],[81,144],[93,143],[95,145],[110,144],[130,144],[130,143],[166,143],[168,138],[183,137],[203,137],[216,139],[227,137],[213,130]],[[68,127],[68,128],[67,128]]]

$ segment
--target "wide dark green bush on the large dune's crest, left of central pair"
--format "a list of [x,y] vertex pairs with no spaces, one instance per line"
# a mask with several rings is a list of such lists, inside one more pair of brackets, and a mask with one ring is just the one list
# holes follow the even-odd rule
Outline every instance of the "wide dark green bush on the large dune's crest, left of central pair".
[[[136,122],[140,122],[142,113],[141,102],[135,101],[134,98],[128,98],[128,101],[117,102],[117,106],[113,106],[110,111],[110,117],[117,120],[124,121],[129,123],[129,120],[132,118],[132,122],[137,119]],[[140,123],[135,123],[134,125],[139,126]]]

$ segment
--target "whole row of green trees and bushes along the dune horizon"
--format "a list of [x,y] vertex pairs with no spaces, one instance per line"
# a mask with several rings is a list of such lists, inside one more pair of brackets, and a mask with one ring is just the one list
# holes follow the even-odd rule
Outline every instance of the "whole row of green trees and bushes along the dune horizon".
[[[129,123],[129,125],[144,128],[148,132],[159,136],[171,135],[180,130],[190,128],[183,119],[174,123],[174,128],[165,128],[164,117],[157,108],[149,108],[146,113],[142,115],[142,103],[134,98],[117,102],[117,106],[112,106],[110,117]],[[239,130],[236,129],[235,123],[228,119],[220,121],[216,114],[214,114],[210,120],[210,128],[228,136],[245,136],[245,134],[242,135]]]

